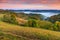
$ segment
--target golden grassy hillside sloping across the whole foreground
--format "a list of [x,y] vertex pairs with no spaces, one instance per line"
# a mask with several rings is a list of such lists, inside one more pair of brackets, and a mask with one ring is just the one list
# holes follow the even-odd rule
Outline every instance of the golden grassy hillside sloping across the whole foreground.
[[20,27],[0,21],[0,38],[1,36],[3,40],[60,40],[60,32]]

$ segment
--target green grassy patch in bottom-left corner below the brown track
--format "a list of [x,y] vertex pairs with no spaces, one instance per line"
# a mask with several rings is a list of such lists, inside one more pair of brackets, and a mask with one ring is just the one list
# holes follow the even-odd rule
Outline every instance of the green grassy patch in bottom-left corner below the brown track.
[[23,37],[19,37],[14,34],[0,31],[0,40],[24,40]]

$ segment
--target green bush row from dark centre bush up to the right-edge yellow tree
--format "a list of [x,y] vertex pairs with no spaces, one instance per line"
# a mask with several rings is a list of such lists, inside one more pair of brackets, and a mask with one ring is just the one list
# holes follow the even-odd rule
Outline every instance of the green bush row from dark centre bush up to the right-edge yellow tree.
[[27,26],[53,30],[54,25],[49,21],[30,19],[28,20]]

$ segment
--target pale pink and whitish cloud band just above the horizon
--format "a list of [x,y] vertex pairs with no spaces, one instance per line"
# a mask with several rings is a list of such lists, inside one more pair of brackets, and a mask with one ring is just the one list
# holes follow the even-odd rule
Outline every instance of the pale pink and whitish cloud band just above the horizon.
[[58,9],[56,5],[34,5],[34,4],[0,4],[0,9]]

